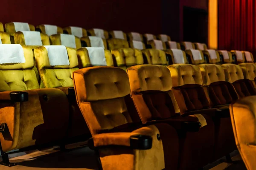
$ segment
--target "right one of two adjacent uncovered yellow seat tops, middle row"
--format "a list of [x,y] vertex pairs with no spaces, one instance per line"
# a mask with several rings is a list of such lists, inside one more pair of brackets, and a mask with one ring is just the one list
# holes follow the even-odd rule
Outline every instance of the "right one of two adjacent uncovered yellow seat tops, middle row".
[[145,56],[144,58],[147,59],[148,64],[168,65],[164,51],[157,49],[145,49],[142,50],[142,52]]

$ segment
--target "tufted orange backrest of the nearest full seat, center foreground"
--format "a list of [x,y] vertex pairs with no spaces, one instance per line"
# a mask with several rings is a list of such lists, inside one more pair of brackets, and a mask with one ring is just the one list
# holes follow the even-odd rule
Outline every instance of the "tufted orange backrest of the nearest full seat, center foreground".
[[[89,67],[73,72],[76,100],[94,136],[101,130],[131,123],[126,98],[128,75],[121,68]],[[131,99],[131,98],[130,98]]]

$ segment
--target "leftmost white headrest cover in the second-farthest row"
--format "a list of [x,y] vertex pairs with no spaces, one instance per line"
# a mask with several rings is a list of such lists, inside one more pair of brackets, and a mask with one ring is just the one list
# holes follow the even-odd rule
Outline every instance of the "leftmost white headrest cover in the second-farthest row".
[[21,31],[26,45],[43,45],[41,34],[38,31]]

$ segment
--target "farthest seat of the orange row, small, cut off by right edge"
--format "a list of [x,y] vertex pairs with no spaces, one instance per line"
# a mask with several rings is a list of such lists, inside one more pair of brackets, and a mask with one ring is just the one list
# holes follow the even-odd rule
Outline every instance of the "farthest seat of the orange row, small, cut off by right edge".
[[241,63],[239,66],[242,68],[244,79],[250,80],[256,88],[256,65],[254,63]]

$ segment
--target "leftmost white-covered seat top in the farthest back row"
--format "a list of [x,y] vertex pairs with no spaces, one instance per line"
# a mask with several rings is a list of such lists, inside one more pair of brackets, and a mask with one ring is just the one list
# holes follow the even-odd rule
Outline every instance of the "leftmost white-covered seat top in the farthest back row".
[[35,26],[29,23],[12,22],[5,24],[6,32],[15,33],[17,31],[35,31]]

